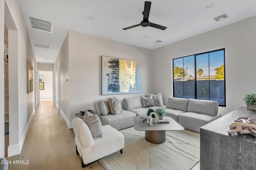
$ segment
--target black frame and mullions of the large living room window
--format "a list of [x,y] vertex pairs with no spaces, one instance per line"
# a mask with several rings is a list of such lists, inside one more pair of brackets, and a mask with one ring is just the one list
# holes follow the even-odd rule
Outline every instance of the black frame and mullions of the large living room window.
[[[214,52],[217,52],[217,51],[223,51],[223,55],[224,55],[224,105],[221,105],[219,104],[219,106],[222,106],[222,107],[226,107],[226,64],[225,64],[225,48],[223,49],[217,49],[217,50],[213,50],[213,51],[208,51],[208,52],[204,52],[204,53],[198,53],[198,54],[194,54],[194,55],[188,55],[188,56],[184,56],[184,57],[178,57],[178,58],[175,58],[175,59],[181,59],[181,58],[185,58],[185,57],[190,57],[190,56],[194,56],[194,73],[195,73],[195,78],[194,78],[194,95],[195,95],[195,99],[197,99],[197,86],[196,86],[196,83],[197,83],[197,74],[196,74],[196,71],[198,68],[196,68],[196,56],[198,55],[204,55],[204,54],[207,54],[207,53],[214,53]],[[173,90],[173,96],[175,97],[175,93],[174,93],[174,90],[175,90],[175,87],[174,87],[174,60],[175,59],[172,59],[172,90]],[[183,63],[184,63],[184,60],[183,60]],[[210,65],[210,61],[209,61],[209,65]],[[184,66],[184,65],[183,65]],[[184,68],[183,68],[184,69]],[[185,76],[184,76],[185,77]],[[210,78],[209,78],[210,80]],[[183,88],[183,92],[184,92],[184,88]],[[210,90],[209,90],[209,94],[210,94]],[[210,96],[210,95],[209,95]],[[183,98],[185,97],[185,95],[183,95]]]

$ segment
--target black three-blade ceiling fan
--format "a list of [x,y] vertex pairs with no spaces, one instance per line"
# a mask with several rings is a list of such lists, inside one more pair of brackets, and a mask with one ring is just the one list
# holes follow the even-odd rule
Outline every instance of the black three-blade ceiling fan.
[[133,26],[130,26],[130,27],[126,27],[126,28],[123,28],[123,29],[126,30],[126,29],[130,29],[130,28],[138,27],[138,26],[141,25],[142,27],[150,26],[150,27],[165,30],[167,27],[164,27],[162,25],[158,25],[158,24],[155,24],[155,23],[152,23],[152,22],[148,21],[150,6],[151,6],[151,2],[145,1],[144,11],[142,12],[143,20],[139,24],[136,24],[136,25],[133,25]]

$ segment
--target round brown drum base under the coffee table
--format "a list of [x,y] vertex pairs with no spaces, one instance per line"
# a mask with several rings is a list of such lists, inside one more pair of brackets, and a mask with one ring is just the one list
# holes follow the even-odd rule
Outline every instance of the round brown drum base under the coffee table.
[[166,131],[145,131],[145,139],[150,143],[164,143]]

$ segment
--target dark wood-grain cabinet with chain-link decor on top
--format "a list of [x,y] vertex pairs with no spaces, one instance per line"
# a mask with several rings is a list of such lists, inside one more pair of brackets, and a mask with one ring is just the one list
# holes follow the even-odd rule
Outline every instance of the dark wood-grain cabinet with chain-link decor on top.
[[227,133],[238,117],[256,118],[256,111],[240,107],[201,127],[201,170],[256,170],[256,135]]

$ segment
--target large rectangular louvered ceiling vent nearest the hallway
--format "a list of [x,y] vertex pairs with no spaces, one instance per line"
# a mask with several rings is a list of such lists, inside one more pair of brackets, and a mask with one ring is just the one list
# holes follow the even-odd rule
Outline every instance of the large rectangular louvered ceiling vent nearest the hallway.
[[33,16],[28,16],[28,18],[30,21],[30,27],[32,29],[45,31],[48,33],[53,32],[53,22],[52,21],[47,21],[47,20],[36,18]]

